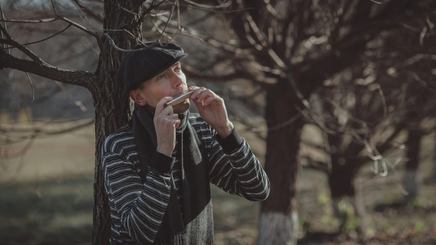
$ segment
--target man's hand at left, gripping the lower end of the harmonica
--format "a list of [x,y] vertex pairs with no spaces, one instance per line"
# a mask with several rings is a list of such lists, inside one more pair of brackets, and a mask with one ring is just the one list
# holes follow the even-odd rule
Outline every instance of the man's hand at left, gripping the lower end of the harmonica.
[[170,157],[176,145],[176,129],[180,124],[180,119],[177,114],[174,114],[172,106],[164,109],[164,104],[172,99],[172,97],[164,97],[157,103],[153,119],[157,136],[157,151]]

